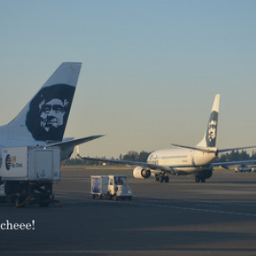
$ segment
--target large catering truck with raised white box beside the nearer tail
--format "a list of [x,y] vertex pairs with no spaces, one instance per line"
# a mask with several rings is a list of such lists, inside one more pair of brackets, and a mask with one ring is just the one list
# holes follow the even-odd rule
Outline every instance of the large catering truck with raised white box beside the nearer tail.
[[54,202],[52,185],[61,179],[61,149],[42,147],[2,148],[0,199],[17,207]]

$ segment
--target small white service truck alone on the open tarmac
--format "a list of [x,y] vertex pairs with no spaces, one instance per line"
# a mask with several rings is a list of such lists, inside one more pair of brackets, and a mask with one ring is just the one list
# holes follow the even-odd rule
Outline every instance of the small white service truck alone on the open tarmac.
[[112,198],[118,199],[132,199],[132,190],[126,182],[126,177],[123,175],[105,175],[105,176],[91,176],[90,179],[92,198],[95,199],[96,195],[108,196],[108,200]]

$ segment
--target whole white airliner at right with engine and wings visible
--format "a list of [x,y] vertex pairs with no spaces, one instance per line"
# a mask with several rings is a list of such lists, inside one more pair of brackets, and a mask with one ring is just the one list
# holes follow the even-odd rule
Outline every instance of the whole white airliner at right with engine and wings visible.
[[[154,176],[156,181],[169,182],[169,176],[173,175],[189,175],[195,174],[195,182],[204,183],[207,178],[212,177],[213,167],[223,166],[234,166],[239,164],[250,164],[255,163],[256,160],[252,161],[239,161],[239,162],[224,162],[224,163],[213,163],[218,153],[230,151],[241,148],[216,148],[217,130],[218,130],[218,108],[219,108],[219,97],[215,96],[210,119],[207,122],[207,130],[200,143],[195,147],[182,146],[172,144],[177,148],[166,148],[155,150],[148,156],[147,163],[132,162],[125,160],[105,160],[98,158],[83,157],[84,160],[100,160],[104,162],[112,162],[118,164],[124,164],[129,166],[136,166],[133,170],[133,177],[136,178],[148,178]],[[243,147],[243,148],[254,148]],[[80,156],[79,156],[80,157]],[[81,158],[81,157],[80,157]]]

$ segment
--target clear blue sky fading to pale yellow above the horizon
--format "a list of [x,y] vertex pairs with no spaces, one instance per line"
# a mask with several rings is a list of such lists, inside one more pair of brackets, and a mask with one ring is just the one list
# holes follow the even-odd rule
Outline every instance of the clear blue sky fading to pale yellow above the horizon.
[[0,0],[0,125],[64,61],[83,62],[65,137],[119,157],[201,141],[256,145],[256,1]]

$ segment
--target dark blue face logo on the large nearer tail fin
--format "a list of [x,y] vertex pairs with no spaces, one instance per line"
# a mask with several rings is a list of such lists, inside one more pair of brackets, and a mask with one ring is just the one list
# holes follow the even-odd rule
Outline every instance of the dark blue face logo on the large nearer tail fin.
[[55,84],[40,90],[26,114],[26,126],[36,140],[61,141],[75,88]]

